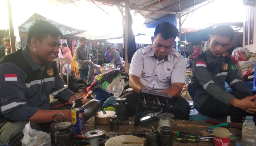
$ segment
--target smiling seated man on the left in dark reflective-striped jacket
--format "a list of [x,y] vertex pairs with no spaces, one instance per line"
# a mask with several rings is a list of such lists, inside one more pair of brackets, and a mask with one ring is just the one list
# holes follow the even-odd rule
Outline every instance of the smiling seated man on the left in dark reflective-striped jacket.
[[[21,146],[22,130],[29,121],[31,128],[45,132],[49,132],[53,114],[64,114],[71,121],[71,105],[50,110],[49,103],[49,94],[64,103],[80,99],[64,87],[53,64],[60,37],[56,26],[38,20],[29,28],[27,45],[0,59],[0,143]],[[83,104],[89,101],[81,100]],[[64,108],[69,110],[60,110]]]

